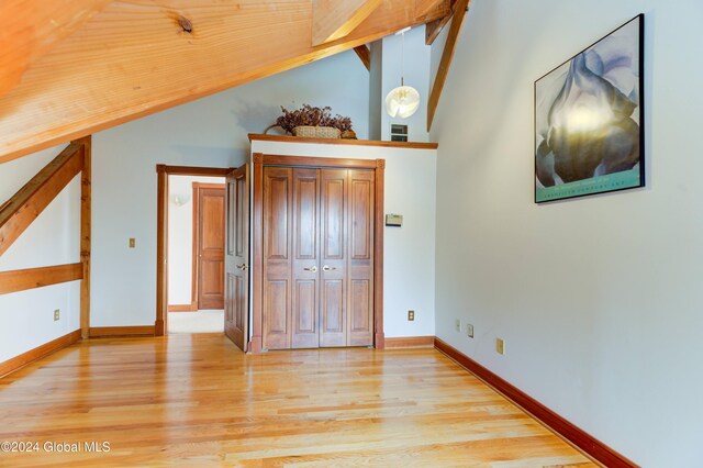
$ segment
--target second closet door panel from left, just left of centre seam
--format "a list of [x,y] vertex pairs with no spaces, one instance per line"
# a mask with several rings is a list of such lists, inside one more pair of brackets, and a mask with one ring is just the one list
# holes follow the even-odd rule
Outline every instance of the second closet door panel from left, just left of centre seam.
[[292,347],[316,348],[320,278],[317,169],[293,169]]

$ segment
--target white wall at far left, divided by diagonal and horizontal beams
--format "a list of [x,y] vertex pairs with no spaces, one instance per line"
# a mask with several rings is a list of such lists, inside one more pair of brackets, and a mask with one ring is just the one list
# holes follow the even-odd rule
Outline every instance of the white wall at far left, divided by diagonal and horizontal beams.
[[[0,165],[0,205],[54,159],[63,146]],[[80,176],[0,257],[0,271],[80,261]],[[54,310],[60,320],[54,322]],[[0,294],[0,363],[80,327],[80,281]]]

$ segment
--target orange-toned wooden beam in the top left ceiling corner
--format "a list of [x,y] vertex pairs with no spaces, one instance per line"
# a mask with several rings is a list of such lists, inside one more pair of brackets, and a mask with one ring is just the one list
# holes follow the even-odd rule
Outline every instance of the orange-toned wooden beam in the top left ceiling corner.
[[0,96],[32,63],[78,30],[110,0],[3,0],[0,2]]

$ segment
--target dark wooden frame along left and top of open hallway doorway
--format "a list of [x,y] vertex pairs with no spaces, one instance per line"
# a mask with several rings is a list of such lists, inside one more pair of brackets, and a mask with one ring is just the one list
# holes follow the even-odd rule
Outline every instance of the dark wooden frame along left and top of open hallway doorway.
[[168,320],[168,176],[226,177],[233,168],[156,165],[156,321],[154,335],[167,333]]

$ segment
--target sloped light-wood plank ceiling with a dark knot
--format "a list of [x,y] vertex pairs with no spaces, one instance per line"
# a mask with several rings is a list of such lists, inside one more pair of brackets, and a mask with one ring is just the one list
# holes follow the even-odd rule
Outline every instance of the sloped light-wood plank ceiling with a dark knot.
[[450,12],[449,0],[3,0],[0,163]]

